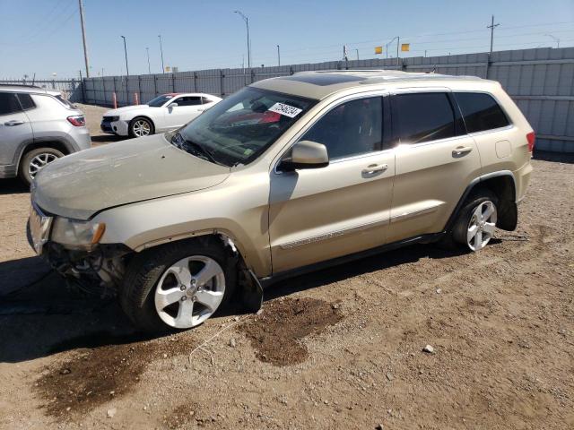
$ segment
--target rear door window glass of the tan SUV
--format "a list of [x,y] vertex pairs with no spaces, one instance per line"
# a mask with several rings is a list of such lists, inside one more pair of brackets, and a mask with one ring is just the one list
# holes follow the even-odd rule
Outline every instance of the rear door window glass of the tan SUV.
[[422,143],[456,135],[455,114],[444,92],[399,94],[393,98],[393,128],[401,143]]

